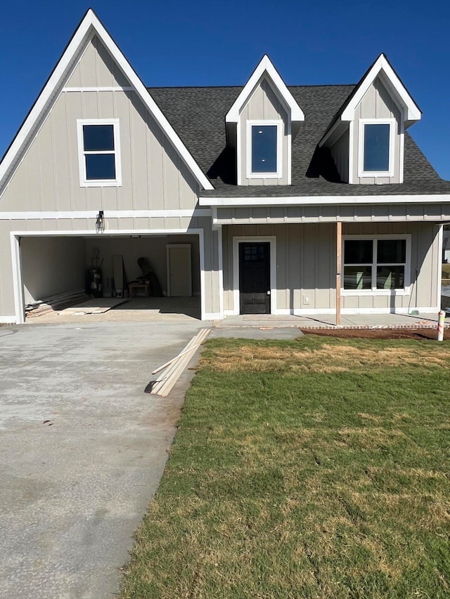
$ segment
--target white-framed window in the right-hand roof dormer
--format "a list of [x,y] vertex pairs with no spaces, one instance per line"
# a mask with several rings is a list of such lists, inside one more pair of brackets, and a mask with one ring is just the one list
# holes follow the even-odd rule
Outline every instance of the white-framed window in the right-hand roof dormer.
[[394,175],[394,119],[359,121],[359,177]]

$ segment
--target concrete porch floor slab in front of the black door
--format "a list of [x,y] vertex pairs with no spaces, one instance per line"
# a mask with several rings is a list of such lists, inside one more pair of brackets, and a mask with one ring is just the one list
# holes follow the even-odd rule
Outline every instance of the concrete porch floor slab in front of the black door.
[[[435,328],[438,314],[346,314],[341,315],[340,327],[336,327],[334,314],[315,314],[311,316],[278,316],[272,314],[245,314],[226,316],[224,320],[214,321],[214,327],[298,327],[300,329],[352,328],[352,329],[400,329]],[[450,318],[446,322],[450,327]]]

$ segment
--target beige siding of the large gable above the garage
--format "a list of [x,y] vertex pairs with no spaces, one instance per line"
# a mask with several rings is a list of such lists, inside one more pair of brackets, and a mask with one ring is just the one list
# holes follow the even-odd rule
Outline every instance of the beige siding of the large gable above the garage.
[[[97,38],[0,197],[0,211],[192,209],[200,187]],[[119,119],[122,186],[80,187],[77,119]]]

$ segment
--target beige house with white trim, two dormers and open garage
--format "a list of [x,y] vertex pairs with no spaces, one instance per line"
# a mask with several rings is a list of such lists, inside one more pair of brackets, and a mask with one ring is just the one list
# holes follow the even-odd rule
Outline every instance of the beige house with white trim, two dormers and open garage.
[[[450,183],[385,55],[352,86],[146,88],[89,10],[0,163],[0,320],[139,256],[204,320],[436,311]],[[103,218],[103,227],[98,228]]]

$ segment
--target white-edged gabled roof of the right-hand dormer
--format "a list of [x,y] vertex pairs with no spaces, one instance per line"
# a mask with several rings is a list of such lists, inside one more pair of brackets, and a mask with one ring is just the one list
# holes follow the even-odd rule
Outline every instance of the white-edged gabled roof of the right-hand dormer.
[[375,62],[368,67],[368,70],[361,77],[359,83],[356,84],[352,93],[345,100],[345,103],[342,104],[340,110],[335,114],[333,121],[331,121],[325,135],[319,142],[320,147],[326,143],[342,122],[354,120],[356,107],[358,107],[368,88],[370,88],[377,77],[380,77],[383,84],[385,84],[392,94],[395,103],[403,110],[405,129],[416,121],[420,121],[422,116],[420,108],[414,102],[413,98],[411,98],[411,94],[406,89],[406,86],[404,86],[389,60],[387,60],[387,56],[381,53]]

